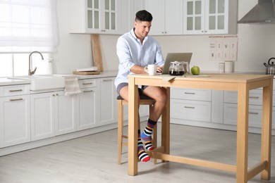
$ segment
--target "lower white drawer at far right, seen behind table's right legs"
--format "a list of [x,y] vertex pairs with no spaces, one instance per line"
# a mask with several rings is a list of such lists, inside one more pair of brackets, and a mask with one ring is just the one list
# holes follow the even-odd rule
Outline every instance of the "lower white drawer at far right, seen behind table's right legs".
[[[262,106],[250,105],[248,109],[248,126],[262,127]],[[238,105],[235,103],[224,103],[224,124],[237,125]],[[275,116],[275,108],[272,109]],[[272,119],[272,127],[275,126],[275,118]]]

